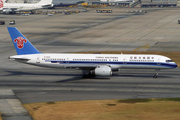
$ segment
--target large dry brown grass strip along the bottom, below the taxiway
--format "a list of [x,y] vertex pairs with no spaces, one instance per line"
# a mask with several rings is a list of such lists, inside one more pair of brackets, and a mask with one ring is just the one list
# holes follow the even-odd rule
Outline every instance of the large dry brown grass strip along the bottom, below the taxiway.
[[178,120],[179,106],[180,98],[24,104],[34,120]]

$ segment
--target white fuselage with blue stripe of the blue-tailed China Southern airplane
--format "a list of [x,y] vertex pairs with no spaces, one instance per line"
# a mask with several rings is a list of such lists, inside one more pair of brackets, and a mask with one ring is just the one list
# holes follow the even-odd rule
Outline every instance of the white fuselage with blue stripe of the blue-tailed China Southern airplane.
[[[96,68],[108,65],[117,69],[169,69],[176,63],[161,55],[138,54],[30,54],[15,55],[10,59],[42,67],[54,68]],[[24,60],[23,60],[24,59]]]

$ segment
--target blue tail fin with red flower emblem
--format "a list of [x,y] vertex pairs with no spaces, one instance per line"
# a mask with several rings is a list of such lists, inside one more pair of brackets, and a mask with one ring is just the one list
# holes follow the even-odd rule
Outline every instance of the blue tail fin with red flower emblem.
[[40,52],[15,27],[7,27],[18,55],[39,54]]

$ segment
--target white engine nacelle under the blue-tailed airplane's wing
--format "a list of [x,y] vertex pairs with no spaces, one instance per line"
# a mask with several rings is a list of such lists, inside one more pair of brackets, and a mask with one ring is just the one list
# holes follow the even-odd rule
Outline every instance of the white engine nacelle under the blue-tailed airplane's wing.
[[111,76],[112,70],[111,67],[107,65],[98,65],[94,70],[94,74],[99,76]]

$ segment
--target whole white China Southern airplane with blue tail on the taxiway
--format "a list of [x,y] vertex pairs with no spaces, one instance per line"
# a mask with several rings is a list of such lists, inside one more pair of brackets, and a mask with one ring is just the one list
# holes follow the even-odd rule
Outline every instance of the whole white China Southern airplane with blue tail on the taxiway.
[[162,55],[147,54],[65,54],[41,53],[15,27],[7,27],[17,55],[10,60],[51,68],[82,70],[83,78],[111,76],[120,69],[154,69],[157,78],[160,69],[173,69],[177,64]]

